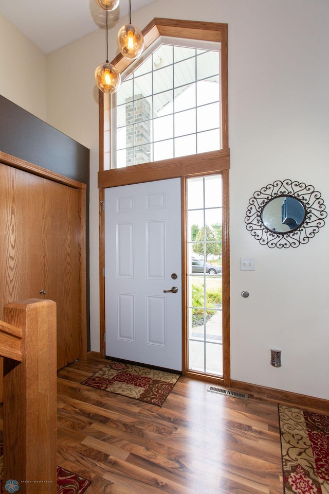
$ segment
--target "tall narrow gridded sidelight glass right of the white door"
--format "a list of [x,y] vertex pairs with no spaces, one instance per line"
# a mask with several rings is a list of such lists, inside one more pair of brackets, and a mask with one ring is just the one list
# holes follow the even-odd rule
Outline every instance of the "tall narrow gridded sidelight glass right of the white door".
[[222,177],[187,183],[188,368],[223,376]]

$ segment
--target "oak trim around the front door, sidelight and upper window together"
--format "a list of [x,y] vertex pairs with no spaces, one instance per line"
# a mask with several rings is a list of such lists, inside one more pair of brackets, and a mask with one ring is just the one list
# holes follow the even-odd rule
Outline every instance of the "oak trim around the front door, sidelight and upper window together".
[[[105,266],[105,242],[104,242],[104,189],[120,185],[129,185],[154,180],[169,178],[181,178],[182,208],[186,205],[186,179],[207,174],[221,173],[223,177],[223,298],[226,307],[223,310],[223,356],[224,379],[214,377],[214,382],[221,381],[230,385],[230,254],[229,254],[229,169],[230,149],[228,146],[228,36],[227,24],[181,21],[174,19],[155,18],[143,30],[144,48],[149,48],[160,36],[185,38],[194,40],[214,41],[221,43],[221,89],[222,89],[222,146],[218,151],[182,156],[141,165],[133,165],[125,168],[104,170],[104,94],[99,91],[99,254],[100,254],[100,356],[105,358],[105,279],[103,267]],[[112,62],[119,72],[128,68],[132,60],[118,55]],[[185,218],[185,209],[182,218]],[[182,221],[182,269],[187,272],[186,255],[186,221]],[[187,283],[183,290],[182,303],[187,301]],[[183,356],[185,365],[183,373],[194,378],[204,379],[205,376],[187,372],[187,322],[183,321]]]

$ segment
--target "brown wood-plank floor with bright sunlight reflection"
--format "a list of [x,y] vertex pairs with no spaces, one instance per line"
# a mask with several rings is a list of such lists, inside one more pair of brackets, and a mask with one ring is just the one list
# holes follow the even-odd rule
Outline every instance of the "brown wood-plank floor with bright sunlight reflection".
[[183,377],[162,407],[81,384],[105,363],[58,372],[57,464],[86,494],[282,494],[276,403]]

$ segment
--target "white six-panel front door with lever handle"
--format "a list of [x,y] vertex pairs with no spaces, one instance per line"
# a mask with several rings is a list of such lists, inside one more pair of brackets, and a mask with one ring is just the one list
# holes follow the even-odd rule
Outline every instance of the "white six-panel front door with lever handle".
[[181,319],[180,179],[105,189],[106,356],[181,371]]

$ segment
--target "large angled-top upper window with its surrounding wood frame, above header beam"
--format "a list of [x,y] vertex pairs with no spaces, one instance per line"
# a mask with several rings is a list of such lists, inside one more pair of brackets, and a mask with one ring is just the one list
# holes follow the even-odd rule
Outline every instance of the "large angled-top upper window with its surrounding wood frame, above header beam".
[[117,93],[101,96],[100,170],[228,148],[227,26],[154,19],[143,34],[138,60],[112,62]]

